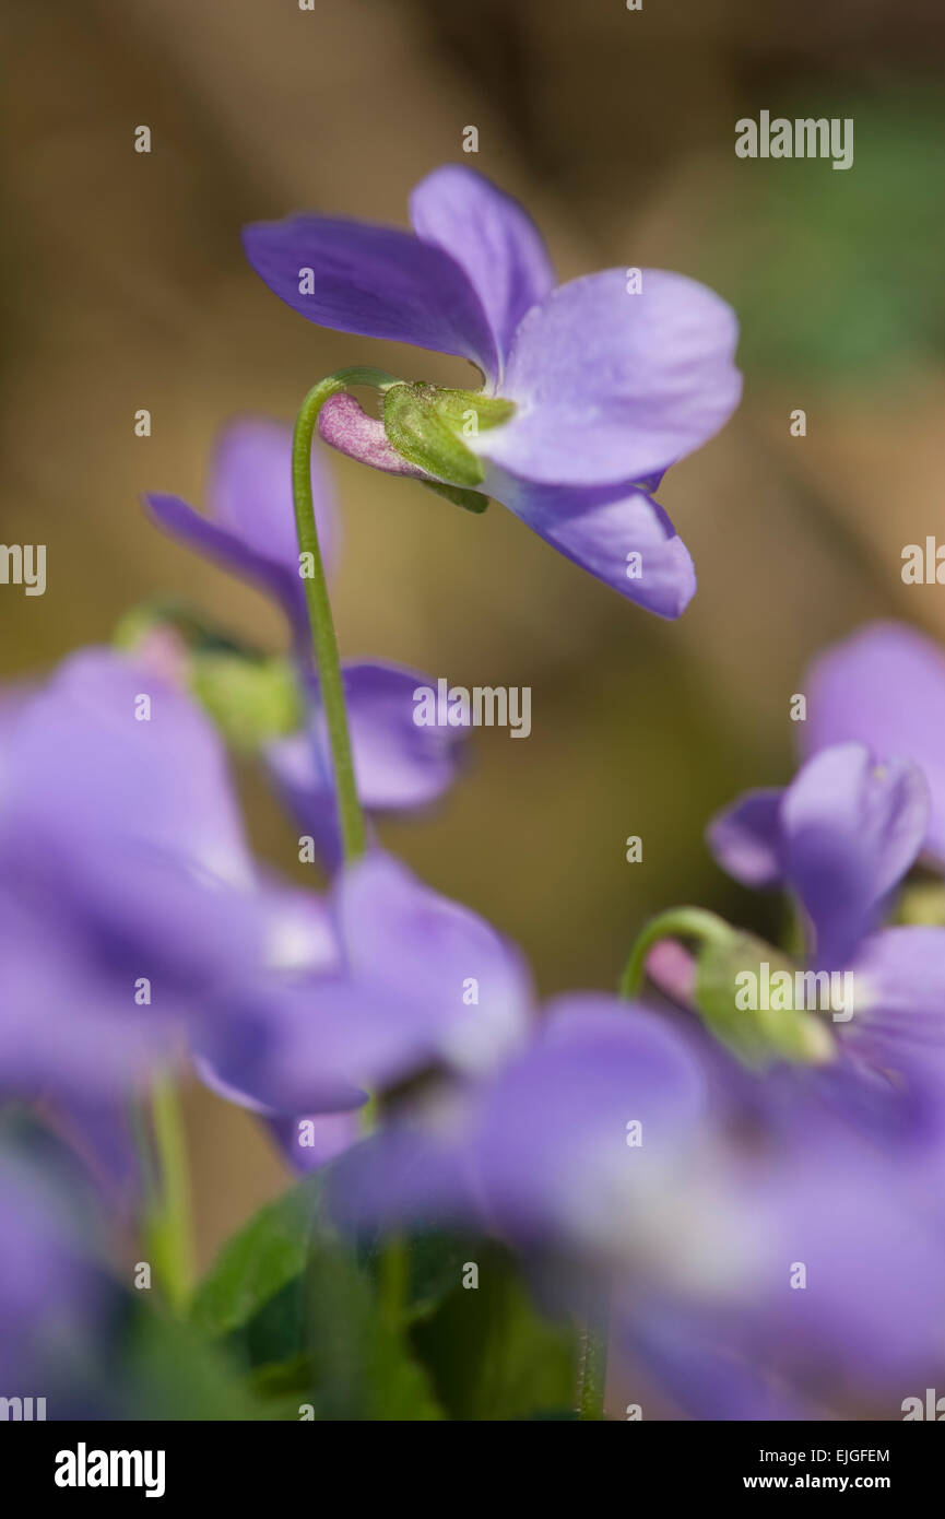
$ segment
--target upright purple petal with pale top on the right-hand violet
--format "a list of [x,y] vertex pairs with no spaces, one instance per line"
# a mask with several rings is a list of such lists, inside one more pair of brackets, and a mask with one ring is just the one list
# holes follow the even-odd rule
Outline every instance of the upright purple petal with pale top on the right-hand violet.
[[784,873],[811,917],[817,962],[849,963],[927,819],[928,790],[907,760],[877,764],[861,744],[839,744],[798,773],[781,802]]

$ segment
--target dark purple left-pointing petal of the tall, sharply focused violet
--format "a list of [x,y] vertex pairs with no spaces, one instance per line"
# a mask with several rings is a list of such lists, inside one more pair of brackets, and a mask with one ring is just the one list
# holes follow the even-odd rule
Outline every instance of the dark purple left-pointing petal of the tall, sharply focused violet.
[[[246,226],[243,248],[269,289],[319,327],[457,354],[489,375],[497,369],[489,324],[466,275],[410,232],[293,216]],[[302,295],[307,279],[311,293]]]

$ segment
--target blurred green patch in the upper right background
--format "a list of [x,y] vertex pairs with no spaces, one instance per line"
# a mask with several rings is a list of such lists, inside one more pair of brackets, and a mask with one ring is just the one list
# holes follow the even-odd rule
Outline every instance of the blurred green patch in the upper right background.
[[[757,118],[757,112],[754,114]],[[822,91],[776,115],[822,117]],[[846,102],[854,163],[741,159],[714,199],[699,272],[732,301],[741,363],[778,381],[871,383],[945,352],[945,111],[889,90]]]

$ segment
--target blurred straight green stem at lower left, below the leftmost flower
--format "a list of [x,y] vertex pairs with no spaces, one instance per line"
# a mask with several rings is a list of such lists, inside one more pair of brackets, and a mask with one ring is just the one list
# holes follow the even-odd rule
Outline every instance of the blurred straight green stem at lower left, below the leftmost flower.
[[173,1312],[181,1314],[194,1282],[193,1218],[184,1118],[169,1075],[158,1075],[153,1082],[150,1115],[161,1192],[149,1223],[149,1243],[167,1302]]

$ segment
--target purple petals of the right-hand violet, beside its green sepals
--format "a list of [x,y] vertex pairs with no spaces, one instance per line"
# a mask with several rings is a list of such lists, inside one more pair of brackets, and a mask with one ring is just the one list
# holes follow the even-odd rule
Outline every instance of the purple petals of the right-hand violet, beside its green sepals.
[[845,743],[819,750],[787,788],[746,793],[708,829],[729,875],[795,895],[814,975],[849,972],[851,1006],[830,1004],[848,1059],[907,1069],[919,1085],[945,1065],[945,930],[878,924],[927,828],[918,766]]

